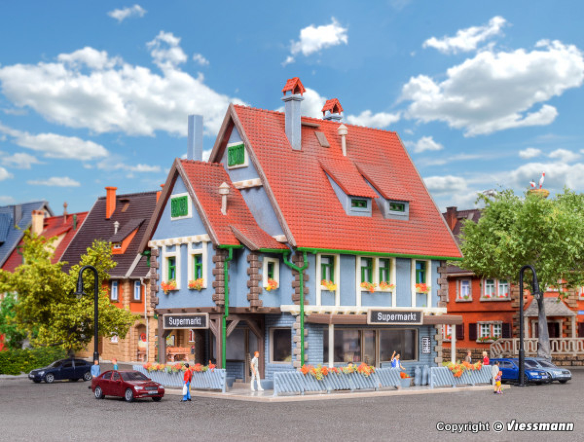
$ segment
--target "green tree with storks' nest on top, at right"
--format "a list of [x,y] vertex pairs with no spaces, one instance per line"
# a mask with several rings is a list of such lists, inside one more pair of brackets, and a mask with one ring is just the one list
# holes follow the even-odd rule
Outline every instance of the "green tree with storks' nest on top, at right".
[[[479,277],[517,281],[519,269],[532,264],[541,290],[557,286],[584,285],[584,196],[569,189],[555,199],[512,190],[495,196],[480,195],[485,204],[480,220],[466,221],[463,227],[461,266]],[[524,287],[530,287],[531,273],[524,274]],[[562,297],[558,292],[558,297]],[[538,356],[550,359],[550,337],[543,297],[538,302]]]

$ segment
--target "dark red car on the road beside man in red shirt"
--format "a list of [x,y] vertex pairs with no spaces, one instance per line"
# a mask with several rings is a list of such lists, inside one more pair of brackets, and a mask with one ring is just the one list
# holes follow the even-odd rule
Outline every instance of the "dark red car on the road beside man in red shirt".
[[126,399],[126,402],[140,398],[152,398],[152,401],[159,402],[164,397],[164,387],[161,384],[134,370],[108,370],[93,378],[89,388],[96,399],[116,396]]

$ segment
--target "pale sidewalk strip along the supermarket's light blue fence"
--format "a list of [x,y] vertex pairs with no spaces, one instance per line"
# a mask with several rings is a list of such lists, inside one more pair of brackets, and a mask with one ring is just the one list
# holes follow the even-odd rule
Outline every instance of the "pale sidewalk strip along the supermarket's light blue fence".
[[[509,385],[503,385],[504,389],[511,388]],[[166,395],[182,396],[182,389],[180,388],[165,388]],[[408,387],[399,389],[383,389],[380,391],[335,391],[331,394],[306,392],[302,395],[279,395],[274,397],[273,390],[264,390],[252,392],[246,389],[231,389],[226,393],[217,391],[201,391],[191,390],[192,397],[199,398],[214,398],[214,399],[230,399],[231,401],[248,401],[248,402],[298,402],[298,401],[326,401],[329,399],[362,399],[362,398],[378,398],[380,396],[404,396],[404,395],[424,395],[424,394],[448,394],[459,393],[463,391],[484,391],[492,392],[492,385],[477,385],[468,387],[444,387],[444,388],[429,388],[426,386]],[[178,399],[177,399],[178,400]]]

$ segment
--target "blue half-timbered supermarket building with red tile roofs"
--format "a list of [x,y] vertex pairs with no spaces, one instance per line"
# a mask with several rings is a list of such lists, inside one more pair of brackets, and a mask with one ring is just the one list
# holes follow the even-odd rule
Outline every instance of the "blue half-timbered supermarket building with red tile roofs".
[[172,165],[140,246],[159,358],[190,347],[221,366],[225,352],[242,380],[255,350],[268,379],[394,350],[410,372],[439,363],[442,324],[461,321],[442,274],[461,255],[398,135],[340,123],[338,100],[301,117],[298,78],[283,92],[284,112],[230,105],[209,162],[190,135]]

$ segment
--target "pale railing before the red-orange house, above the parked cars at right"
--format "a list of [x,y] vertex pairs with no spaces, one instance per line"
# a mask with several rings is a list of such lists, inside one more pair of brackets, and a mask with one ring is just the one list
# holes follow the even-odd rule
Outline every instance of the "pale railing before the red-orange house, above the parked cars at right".
[[[527,356],[537,355],[537,337],[523,339],[523,347]],[[584,337],[551,337],[551,354],[584,354]],[[502,354],[517,356],[519,354],[519,337],[497,339],[490,347],[491,357]]]

